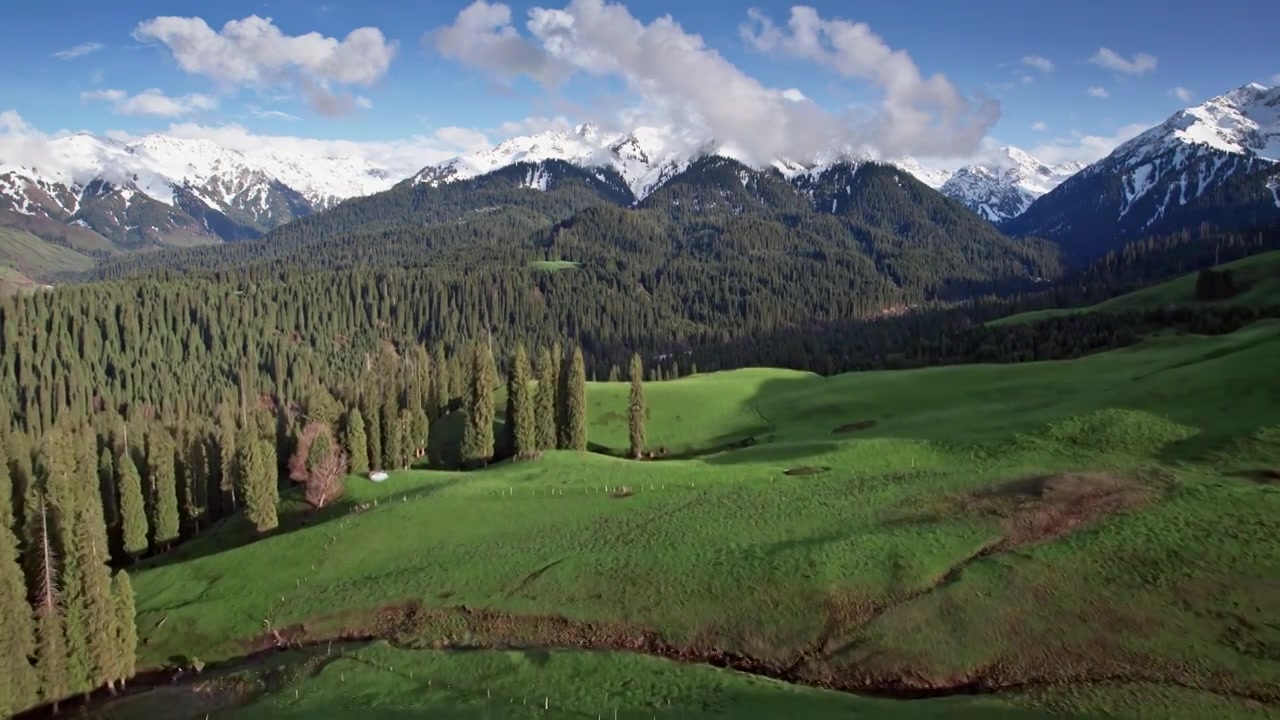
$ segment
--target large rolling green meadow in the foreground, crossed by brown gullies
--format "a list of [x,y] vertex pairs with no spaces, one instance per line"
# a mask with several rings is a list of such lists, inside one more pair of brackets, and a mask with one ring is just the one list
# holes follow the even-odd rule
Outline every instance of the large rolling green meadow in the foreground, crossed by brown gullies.
[[[244,662],[268,628],[388,641],[163,691],[234,688],[236,717],[1275,716],[1276,368],[1262,322],[1070,361],[648,383],[671,459],[352,478],[305,525],[291,498],[270,537],[233,519],[148,561],[142,665]],[[625,447],[626,393],[589,384],[593,446]],[[163,693],[113,711],[160,716]]]

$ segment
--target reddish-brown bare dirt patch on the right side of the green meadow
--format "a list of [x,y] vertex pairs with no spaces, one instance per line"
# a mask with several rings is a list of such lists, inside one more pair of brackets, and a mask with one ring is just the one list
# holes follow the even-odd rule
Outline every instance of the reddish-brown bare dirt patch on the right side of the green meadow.
[[1000,518],[998,550],[1065,537],[1108,515],[1153,501],[1160,488],[1152,478],[1110,473],[1029,475],[975,492],[957,505],[969,512]]

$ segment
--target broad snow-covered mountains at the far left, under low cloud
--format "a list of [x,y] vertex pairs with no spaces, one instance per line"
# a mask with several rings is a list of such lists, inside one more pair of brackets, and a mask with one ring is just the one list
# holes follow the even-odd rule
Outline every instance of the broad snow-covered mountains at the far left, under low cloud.
[[38,160],[0,158],[0,211],[81,225],[119,247],[255,237],[398,179],[361,158],[239,152],[163,135],[78,133],[28,155]]

